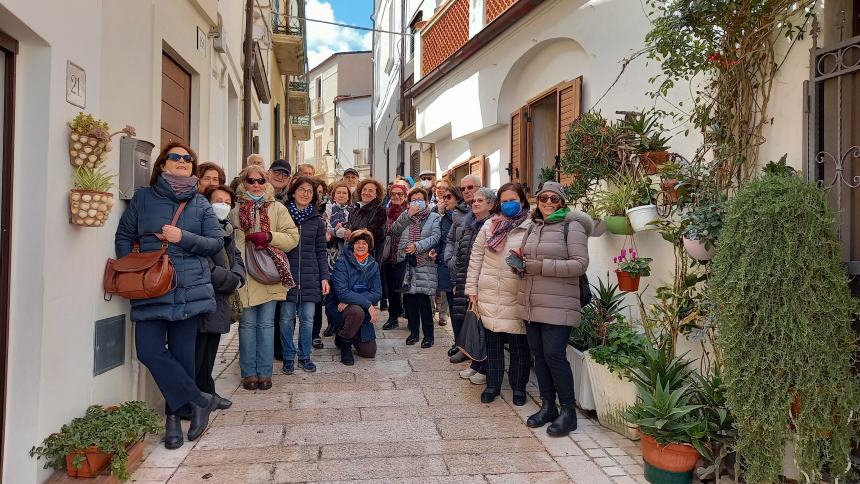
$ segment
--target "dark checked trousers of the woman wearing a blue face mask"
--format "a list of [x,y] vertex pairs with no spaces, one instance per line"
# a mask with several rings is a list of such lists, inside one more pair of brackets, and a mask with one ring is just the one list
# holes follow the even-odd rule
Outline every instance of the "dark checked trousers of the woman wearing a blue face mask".
[[508,381],[512,390],[525,391],[529,382],[531,356],[526,335],[496,333],[486,330],[487,334],[487,388],[498,392],[505,377],[505,343],[511,350],[508,366]]

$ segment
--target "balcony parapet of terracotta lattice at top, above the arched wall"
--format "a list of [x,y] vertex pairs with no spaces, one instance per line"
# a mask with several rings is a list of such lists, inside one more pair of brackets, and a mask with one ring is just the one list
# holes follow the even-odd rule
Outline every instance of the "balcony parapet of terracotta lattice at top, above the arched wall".
[[[460,50],[485,27],[521,0],[448,0],[421,29],[421,76]],[[483,10],[470,20],[470,6]],[[539,3],[534,2],[533,4]]]

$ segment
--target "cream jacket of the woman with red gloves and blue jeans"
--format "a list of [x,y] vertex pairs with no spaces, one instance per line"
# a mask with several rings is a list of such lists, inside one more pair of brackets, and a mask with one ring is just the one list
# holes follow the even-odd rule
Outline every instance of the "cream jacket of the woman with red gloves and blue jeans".
[[[239,206],[248,200],[248,194],[243,187],[239,187],[239,192],[236,194],[236,207],[230,213],[230,221],[235,227],[240,227],[239,224]],[[269,228],[272,232],[273,247],[277,247],[284,252],[289,252],[299,243],[299,229],[296,228],[293,217],[290,216],[290,211],[281,202],[275,200],[274,190],[271,185],[266,188],[266,201],[269,203]],[[259,230],[260,221],[257,219],[254,230]],[[241,229],[236,229],[236,248],[242,253],[243,260],[245,259],[245,232]],[[245,260],[245,267],[248,266],[248,261]],[[283,284],[261,284],[250,275],[244,286],[239,288],[239,298],[242,300],[242,307],[250,308],[258,306],[269,301],[285,301],[287,299],[287,288]]]

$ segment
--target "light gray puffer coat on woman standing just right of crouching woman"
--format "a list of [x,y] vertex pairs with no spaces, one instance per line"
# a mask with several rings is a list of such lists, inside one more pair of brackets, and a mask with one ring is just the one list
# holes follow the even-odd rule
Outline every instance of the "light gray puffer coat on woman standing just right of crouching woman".
[[[426,294],[434,296],[436,294],[437,279],[436,279],[436,262],[430,259],[427,255],[430,249],[436,247],[439,239],[442,238],[442,233],[439,229],[438,213],[430,212],[427,218],[424,219],[424,224],[421,226],[421,240],[415,246],[416,253],[424,254],[424,264],[417,267],[409,266],[409,273],[406,278],[409,281],[409,290],[405,291],[408,294]],[[397,244],[397,262],[406,259],[406,246],[409,245],[409,225],[411,224],[409,211],[400,214],[400,217],[391,224],[391,232],[400,234],[400,242]]]

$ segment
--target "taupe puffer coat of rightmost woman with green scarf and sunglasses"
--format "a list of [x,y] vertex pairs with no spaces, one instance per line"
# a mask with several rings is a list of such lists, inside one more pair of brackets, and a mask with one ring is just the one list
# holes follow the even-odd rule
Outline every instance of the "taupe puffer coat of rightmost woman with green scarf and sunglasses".
[[[565,223],[568,224],[567,244],[563,233]],[[579,326],[579,276],[588,269],[591,217],[573,210],[564,222],[529,219],[520,228],[528,233],[523,247],[526,259],[542,262],[540,274],[527,274],[520,286],[520,317],[537,323]]]

